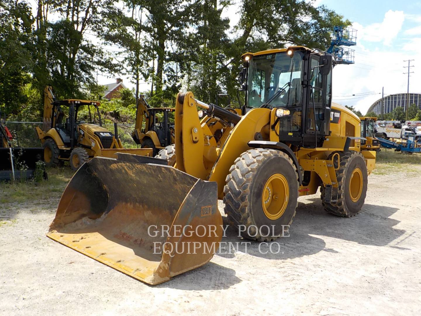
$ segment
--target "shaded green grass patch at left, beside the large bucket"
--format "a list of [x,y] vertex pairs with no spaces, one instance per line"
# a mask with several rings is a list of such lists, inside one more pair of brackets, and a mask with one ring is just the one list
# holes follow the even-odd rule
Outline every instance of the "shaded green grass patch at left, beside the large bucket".
[[0,187],[1,203],[22,203],[60,197],[64,188],[73,176],[68,167],[50,168],[47,170],[48,180],[41,182],[5,182]]

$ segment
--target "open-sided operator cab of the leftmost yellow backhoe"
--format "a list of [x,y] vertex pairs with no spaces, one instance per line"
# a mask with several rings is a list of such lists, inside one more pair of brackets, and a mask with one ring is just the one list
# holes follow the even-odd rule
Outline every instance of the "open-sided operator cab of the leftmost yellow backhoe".
[[[88,109],[89,123],[102,126],[101,114],[99,112],[99,102],[78,99],[66,99],[53,102],[53,120],[51,128],[56,129],[63,143],[73,147],[77,140],[76,126],[84,124],[83,118],[87,115],[82,112]],[[66,117],[67,116],[67,117]],[[65,118],[66,117],[66,118]]]

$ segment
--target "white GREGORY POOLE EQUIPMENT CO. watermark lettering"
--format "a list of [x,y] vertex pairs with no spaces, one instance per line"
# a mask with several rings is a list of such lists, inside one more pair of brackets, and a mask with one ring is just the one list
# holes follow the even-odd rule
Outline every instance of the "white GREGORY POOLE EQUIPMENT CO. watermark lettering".
[[[222,237],[226,237],[226,230],[229,225],[221,225]],[[148,235],[150,237],[217,237],[218,227],[216,225],[197,225],[193,228],[192,225],[173,225],[171,228],[169,225],[150,225],[148,227]],[[289,225],[282,225],[282,233],[275,234],[275,225],[263,225],[257,227],[250,225],[238,226],[238,237],[242,236],[242,233],[247,233],[248,236],[257,236],[259,233],[262,237],[277,238],[277,237],[289,237]],[[253,233],[255,232],[255,233]],[[169,242],[169,241],[153,241],[154,254],[168,254],[173,257],[175,254],[197,254],[197,253],[216,253],[216,254],[232,254],[233,252],[248,252],[248,246],[251,245],[250,241],[221,241],[221,242],[206,242],[206,241],[180,241],[180,242]],[[258,245],[258,252],[262,254],[272,253],[277,254],[281,252],[281,246],[277,242],[267,243],[263,242]],[[282,252],[283,253],[283,252]]]

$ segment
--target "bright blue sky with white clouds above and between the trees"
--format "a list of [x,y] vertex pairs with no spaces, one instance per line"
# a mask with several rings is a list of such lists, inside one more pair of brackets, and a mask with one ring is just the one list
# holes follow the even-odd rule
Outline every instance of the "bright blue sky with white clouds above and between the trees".
[[[223,15],[229,17],[231,27],[239,20],[238,6],[229,6]],[[410,93],[421,93],[421,0],[309,0],[314,6],[328,8],[349,19],[357,30],[355,64],[337,65],[333,70],[333,101],[354,106],[363,114],[373,102],[384,95],[407,91],[408,62],[414,59],[410,71]],[[35,0],[31,0],[33,9]],[[34,12],[35,13],[35,12]],[[88,35],[94,43],[93,36]],[[119,49],[105,46],[110,54]],[[123,78],[128,88],[134,88],[130,78],[119,75],[98,74],[99,84],[109,84]],[[150,88],[141,82],[140,90]],[[355,96],[353,96],[355,94]]]

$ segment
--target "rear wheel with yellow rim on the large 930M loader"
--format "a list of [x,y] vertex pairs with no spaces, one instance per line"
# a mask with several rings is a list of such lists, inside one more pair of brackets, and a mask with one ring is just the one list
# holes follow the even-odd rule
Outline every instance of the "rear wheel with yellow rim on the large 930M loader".
[[[326,202],[324,187],[320,187],[322,204],[326,212],[342,217],[357,215],[367,194],[367,166],[361,153],[339,152],[339,169],[336,170],[338,199]],[[329,157],[331,159],[331,156]],[[336,165],[335,168],[338,166]]]

